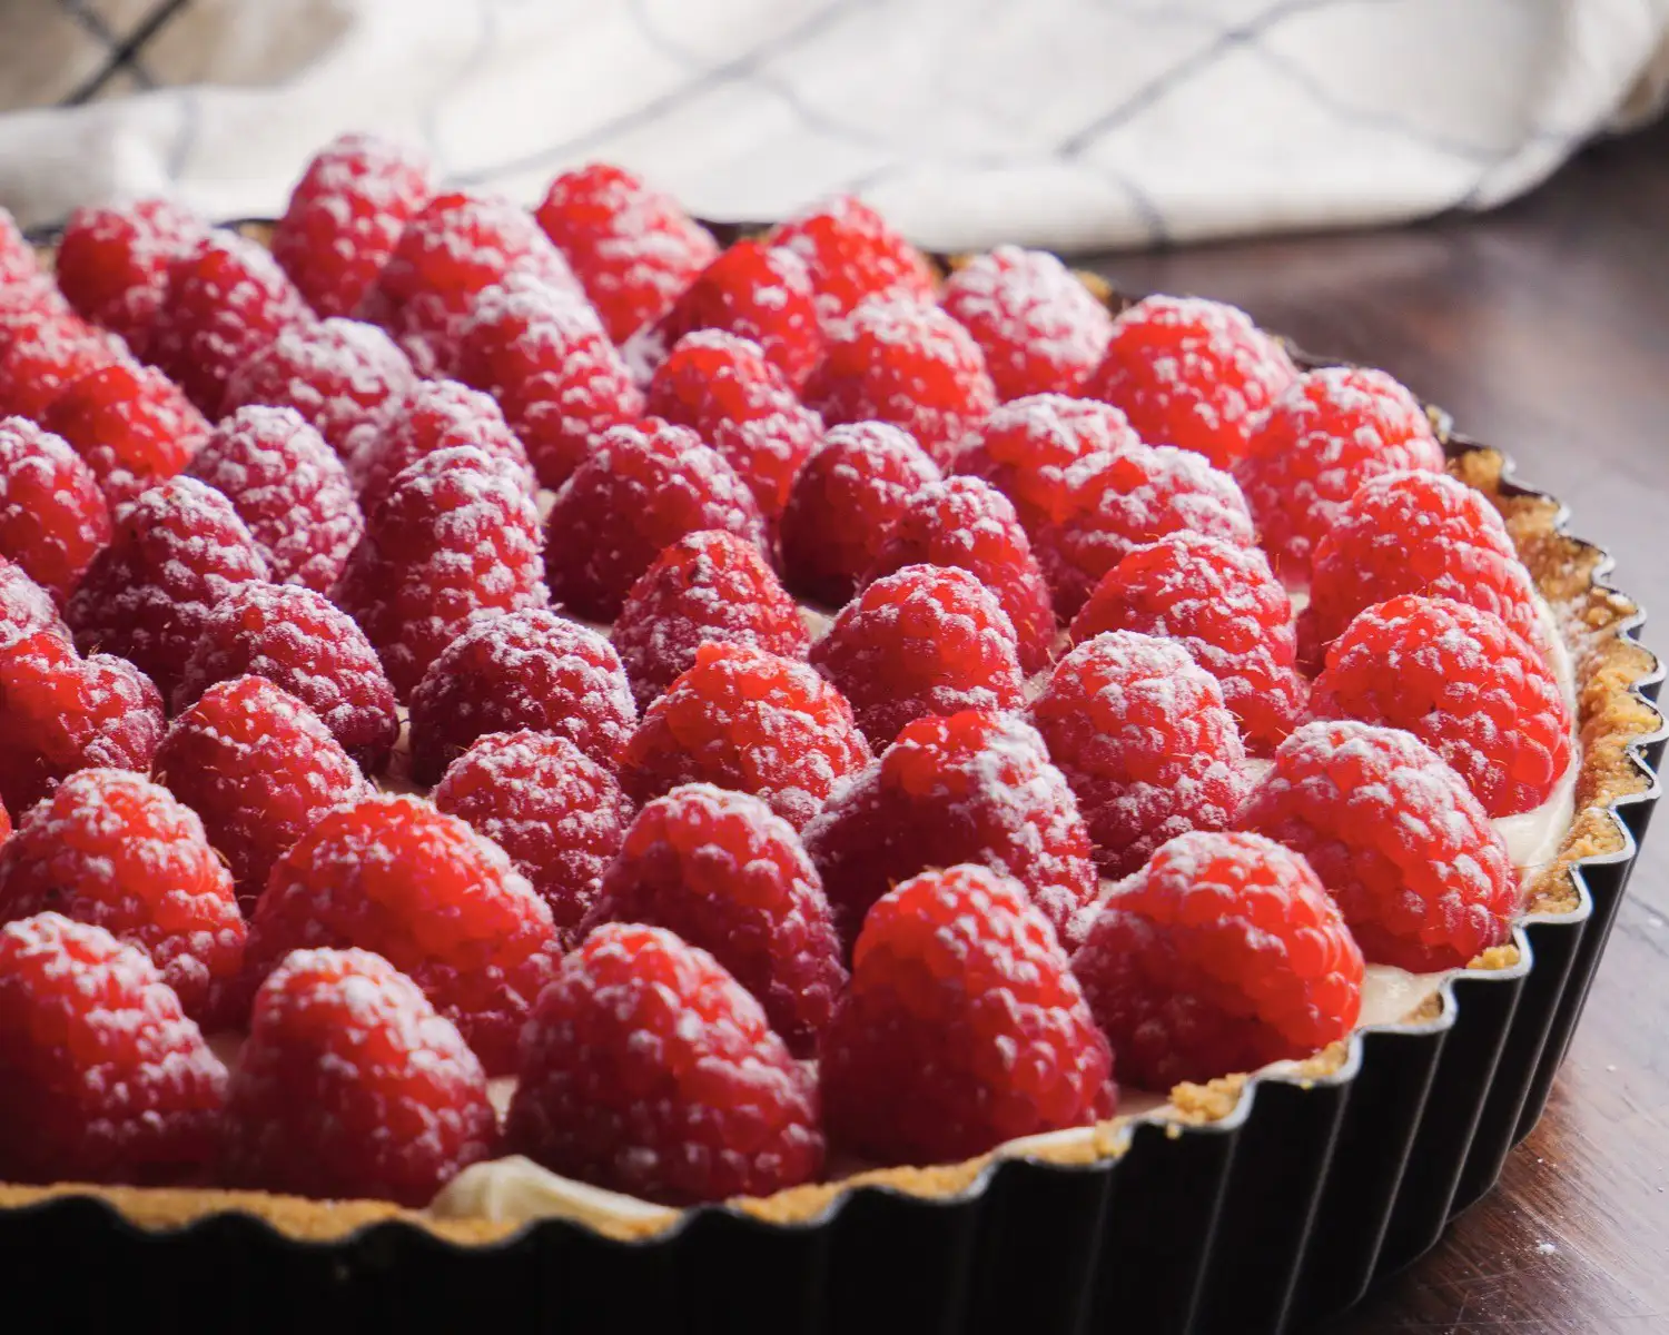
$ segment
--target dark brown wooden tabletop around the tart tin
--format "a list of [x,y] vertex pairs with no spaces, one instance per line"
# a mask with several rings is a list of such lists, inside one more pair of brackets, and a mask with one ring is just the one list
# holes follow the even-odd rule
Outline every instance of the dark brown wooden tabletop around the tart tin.
[[[1509,209],[1394,232],[1120,255],[1130,292],[1222,297],[1382,365],[1609,547],[1669,646],[1669,123]],[[1649,838],[1547,1115],[1435,1252],[1325,1335],[1669,1332],[1669,816]]]

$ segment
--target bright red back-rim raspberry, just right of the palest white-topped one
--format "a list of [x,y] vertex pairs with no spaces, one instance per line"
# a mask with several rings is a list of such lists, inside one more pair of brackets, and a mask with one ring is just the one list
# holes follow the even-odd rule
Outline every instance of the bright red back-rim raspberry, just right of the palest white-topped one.
[[1150,446],[1192,449],[1228,467],[1263,409],[1297,379],[1287,350],[1243,310],[1152,295],[1113,320],[1083,392],[1123,409]]

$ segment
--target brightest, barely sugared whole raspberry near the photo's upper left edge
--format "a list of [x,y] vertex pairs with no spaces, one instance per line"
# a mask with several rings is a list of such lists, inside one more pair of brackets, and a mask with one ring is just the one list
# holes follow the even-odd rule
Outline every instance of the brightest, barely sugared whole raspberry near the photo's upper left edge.
[[82,375],[42,424],[62,436],[112,506],[180,472],[209,439],[207,419],[160,370],[117,362]]

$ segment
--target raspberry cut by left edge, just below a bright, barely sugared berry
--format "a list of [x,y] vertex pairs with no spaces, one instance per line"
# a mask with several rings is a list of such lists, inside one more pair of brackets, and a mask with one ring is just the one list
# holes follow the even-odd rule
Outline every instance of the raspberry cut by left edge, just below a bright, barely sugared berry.
[[0,419],[0,552],[62,602],[108,541],[110,511],[80,456],[27,417]]

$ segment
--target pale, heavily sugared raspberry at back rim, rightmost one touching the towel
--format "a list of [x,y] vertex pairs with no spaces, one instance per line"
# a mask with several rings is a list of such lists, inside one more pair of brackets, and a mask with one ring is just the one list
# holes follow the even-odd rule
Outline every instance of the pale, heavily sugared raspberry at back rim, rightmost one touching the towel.
[[1000,399],[1077,394],[1113,334],[1113,317],[1046,250],[998,245],[945,282],[945,309],[985,352]]

